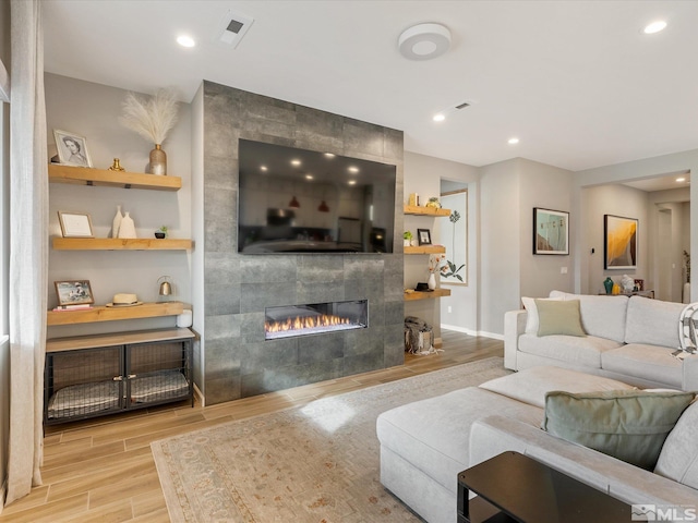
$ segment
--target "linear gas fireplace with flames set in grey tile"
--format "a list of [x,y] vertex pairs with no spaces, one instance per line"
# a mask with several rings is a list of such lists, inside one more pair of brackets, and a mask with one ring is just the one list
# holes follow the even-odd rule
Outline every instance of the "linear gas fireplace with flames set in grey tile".
[[368,300],[266,307],[264,339],[317,335],[369,326]]

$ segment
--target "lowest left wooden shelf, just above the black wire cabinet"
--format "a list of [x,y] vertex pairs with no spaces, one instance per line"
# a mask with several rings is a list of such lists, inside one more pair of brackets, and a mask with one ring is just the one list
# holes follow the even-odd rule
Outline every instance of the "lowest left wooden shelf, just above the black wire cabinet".
[[96,306],[77,311],[49,311],[47,325],[92,324],[95,321],[115,321],[118,319],[156,318],[182,314],[182,302],[143,303],[132,307]]

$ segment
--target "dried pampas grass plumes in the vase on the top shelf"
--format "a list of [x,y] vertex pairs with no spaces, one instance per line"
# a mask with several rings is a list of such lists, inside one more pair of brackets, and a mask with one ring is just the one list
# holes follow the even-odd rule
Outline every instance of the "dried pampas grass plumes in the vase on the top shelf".
[[122,108],[119,122],[154,144],[161,145],[177,123],[177,97],[170,88],[158,89],[148,100],[129,93]]

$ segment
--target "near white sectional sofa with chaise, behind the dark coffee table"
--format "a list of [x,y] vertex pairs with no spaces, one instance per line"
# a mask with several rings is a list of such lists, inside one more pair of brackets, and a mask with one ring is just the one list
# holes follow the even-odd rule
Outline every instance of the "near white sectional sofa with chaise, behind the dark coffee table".
[[425,521],[455,523],[457,474],[515,450],[627,503],[672,507],[678,521],[688,521],[698,508],[697,402],[670,433],[654,472],[540,428],[549,391],[628,389],[610,378],[539,366],[384,412],[376,422],[381,483]]

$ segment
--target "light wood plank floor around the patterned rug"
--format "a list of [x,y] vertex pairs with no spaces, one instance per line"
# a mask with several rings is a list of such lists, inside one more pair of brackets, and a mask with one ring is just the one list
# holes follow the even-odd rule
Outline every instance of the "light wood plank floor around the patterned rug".
[[406,364],[214,406],[169,405],[47,428],[44,485],[5,507],[0,522],[169,522],[151,442],[318,398],[502,356],[504,344],[443,331],[444,352]]

